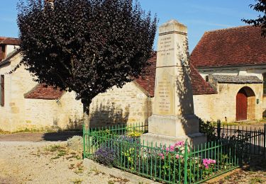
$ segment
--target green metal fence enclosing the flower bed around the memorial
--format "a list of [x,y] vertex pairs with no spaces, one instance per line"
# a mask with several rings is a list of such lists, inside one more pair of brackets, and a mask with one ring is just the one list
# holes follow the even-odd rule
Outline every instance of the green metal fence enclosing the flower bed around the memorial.
[[[165,183],[201,183],[237,168],[243,151],[223,139],[191,148],[187,142],[141,141],[145,125],[83,129],[84,157]],[[137,133],[135,133],[137,132]],[[104,159],[103,159],[104,158]]]

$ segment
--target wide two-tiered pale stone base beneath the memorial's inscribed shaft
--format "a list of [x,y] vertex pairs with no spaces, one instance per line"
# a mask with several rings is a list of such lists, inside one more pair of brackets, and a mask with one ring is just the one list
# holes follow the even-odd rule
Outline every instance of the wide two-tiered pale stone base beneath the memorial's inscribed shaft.
[[190,146],[207,142],[207,137],[199,132],[199,117],[196,115],[152,115],[149,117],[148,133],[142,134],[141,142],[153,146],[186,141]]

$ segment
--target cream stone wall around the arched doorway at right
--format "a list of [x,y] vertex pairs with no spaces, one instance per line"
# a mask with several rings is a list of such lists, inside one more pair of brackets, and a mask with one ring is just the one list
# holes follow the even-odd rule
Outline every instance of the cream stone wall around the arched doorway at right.
[[[240,88],[250,87],[255,97],[248,98],[248,119],[262,119],[262,84],[218,84],[218,94],[196,95],[195,114],[203,120],[234,122],[236,119],[236,95]],[[257,104],[257,99],[259,103]],[[253,109],[250,109],[254,107]],[[250,113],[251,112],[251,113]]]

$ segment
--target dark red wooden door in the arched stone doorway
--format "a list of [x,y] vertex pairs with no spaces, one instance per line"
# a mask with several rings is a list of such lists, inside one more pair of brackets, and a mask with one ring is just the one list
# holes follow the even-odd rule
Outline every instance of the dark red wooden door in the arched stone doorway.
[[236,96],[236,120],[247,120],[248,112],[248,96],[243,89],[241,89]]

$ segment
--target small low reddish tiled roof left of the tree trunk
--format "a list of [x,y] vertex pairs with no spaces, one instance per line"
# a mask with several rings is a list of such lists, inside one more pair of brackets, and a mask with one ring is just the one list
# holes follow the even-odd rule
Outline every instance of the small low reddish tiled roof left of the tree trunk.
[[24,98],[56,100],[60,98],[63,93],[64,91],[54,89],[52,86],[45,87],[43,84],[38,84],[35,88],[26,93]]

